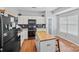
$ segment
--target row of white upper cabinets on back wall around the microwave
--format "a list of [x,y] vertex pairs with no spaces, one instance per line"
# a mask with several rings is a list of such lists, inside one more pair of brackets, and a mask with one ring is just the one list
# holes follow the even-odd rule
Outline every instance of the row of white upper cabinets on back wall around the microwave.
[[29,19],[35,19],[36,24],[46,24],[45,18],[38,17],[38,16],[19,16],[18,17],[18,24],[28,24]]

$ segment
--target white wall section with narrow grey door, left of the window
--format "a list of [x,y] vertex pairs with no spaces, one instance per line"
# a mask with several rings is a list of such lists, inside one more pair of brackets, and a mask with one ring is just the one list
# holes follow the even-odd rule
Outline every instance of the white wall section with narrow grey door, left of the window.
[[[57,17],[56,17],[56,15],[54,15],[51,11],[46,10],[45,17],[46,17],[47,32],[49,34],[56,35],[56,33],[57,33]],[[51,24],[49,24],[49,21],[51,21]]]

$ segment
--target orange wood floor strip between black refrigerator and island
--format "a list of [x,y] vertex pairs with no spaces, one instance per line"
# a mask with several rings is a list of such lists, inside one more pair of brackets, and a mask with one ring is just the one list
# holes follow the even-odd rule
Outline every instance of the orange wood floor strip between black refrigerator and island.
[[21,47],[21,52],[36,52],[36,44],[35,44],[35,39],[25,39],[22,47]]

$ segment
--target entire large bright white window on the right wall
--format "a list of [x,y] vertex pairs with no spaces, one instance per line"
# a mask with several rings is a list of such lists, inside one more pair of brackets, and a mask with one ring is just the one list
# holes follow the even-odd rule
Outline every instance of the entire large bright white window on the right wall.
[[70,15],[59,18],[59,31],[78,35],[78,15]]

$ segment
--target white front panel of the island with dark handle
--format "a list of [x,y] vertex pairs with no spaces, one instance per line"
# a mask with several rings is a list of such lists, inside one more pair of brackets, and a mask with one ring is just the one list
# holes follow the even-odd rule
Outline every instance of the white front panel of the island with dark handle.
[[41,52],[55,52],[55,40],[43,41],[40,42],[40,51]]

